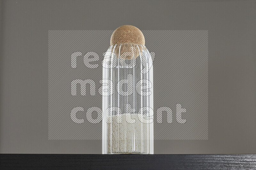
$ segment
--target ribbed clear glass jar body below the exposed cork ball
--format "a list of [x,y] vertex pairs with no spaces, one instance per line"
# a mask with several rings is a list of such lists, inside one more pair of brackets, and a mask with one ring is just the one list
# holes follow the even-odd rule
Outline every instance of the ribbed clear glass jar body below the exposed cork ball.
[[116,44],[104,54],[102,153],[153,154],[153,62],[147,48]]

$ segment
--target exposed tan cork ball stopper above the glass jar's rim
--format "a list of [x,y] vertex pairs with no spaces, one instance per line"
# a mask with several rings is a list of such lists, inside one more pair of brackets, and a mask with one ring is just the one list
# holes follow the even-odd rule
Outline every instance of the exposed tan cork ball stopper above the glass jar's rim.
[[145,38],[139,28],[132,25],[123,25],[112,33],[110,46],[121,43],[141,44],[145,46]]

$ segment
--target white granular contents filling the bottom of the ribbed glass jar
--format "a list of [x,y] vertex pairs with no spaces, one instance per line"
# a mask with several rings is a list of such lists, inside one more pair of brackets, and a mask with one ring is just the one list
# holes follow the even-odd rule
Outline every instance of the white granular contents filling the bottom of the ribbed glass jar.
[[[150,124],[141,123],[137,114],[128,114],[135,119],[134,124],[127,123],[127,114],[121,114],[122,123],[116,122],[116,115],[112,116],[112,123],[107,123],[107,152],[108,153],[148,153],[150,139]],[[110,119],[110,116],[108,116]]]

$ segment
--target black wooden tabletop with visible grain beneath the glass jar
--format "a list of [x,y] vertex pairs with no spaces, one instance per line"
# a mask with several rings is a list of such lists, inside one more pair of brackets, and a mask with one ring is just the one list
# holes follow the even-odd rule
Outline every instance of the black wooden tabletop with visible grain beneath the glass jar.
[[1,169],[256,169],[256,155],[0,154]]

